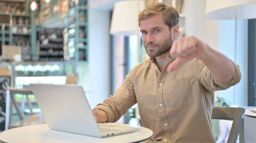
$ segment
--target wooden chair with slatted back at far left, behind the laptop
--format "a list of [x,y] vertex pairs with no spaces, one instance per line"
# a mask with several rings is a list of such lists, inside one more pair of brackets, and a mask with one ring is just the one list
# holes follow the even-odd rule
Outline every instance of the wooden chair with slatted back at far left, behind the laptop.
[[[26,96],[28,108],[30,110],[31,116],[24,119],[23,111],[20,111],[19,105],[17,101],[15,100],[15,94],[22,94]],[[15,128],[20,126],[28,126],[28,125],[35,125],[39,123],[43,123],[43,116],[42,114],[33,114],[33,108],[31,101],[28,98],[29,94],[33,94],[31,89],[17,89],[13,87],[8,87],[7,93],[6,93],[6,115],[5,115],[5,130],[8,130],[9,128]],[[13,102],[13,105],[18,113],[18,116],[20,118],[20,121],[17,123],[10,123],[10,100]]]

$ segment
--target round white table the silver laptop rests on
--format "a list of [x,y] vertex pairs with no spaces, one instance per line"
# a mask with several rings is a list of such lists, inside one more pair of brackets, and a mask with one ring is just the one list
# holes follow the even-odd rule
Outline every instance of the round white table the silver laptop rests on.
[[[122,126],[127,125],[122,124]],[[97,138],[55,131],[49,129],[47,124],[40,124],[3,131],[0,133],[0,141],[6,143],[133,143],[145,141],[152,135],[153,131],[148,128],[140,127],[138,132]]]

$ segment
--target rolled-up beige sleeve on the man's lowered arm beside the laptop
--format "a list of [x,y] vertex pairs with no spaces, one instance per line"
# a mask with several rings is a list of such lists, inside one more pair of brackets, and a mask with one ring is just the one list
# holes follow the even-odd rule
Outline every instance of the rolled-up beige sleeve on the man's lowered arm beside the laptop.
[[115,94],[103,101],[102,104],[98,104],[94,109],[105,111],[108,115],[108,122],[115,122],[136,103],[133,70],[131,70],[125,77],[123,84],[115,91]]

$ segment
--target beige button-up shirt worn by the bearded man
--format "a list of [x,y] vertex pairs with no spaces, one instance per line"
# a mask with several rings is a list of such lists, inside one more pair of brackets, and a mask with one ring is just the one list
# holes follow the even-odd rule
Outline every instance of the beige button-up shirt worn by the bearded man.
[[[168,64],[173,61],[166,58]],[[166,67],[160,72],[152,58],[137,65],[115,94],[95,108],[107,113],[108,122],[115,122],[138,103],[142,126],[154,132],[146,143],[215,143],[210,121],[214,91],[238,83],[239,67],[235,64],[235,77],[227,83],[213,79],[197,58],[172,73]]]

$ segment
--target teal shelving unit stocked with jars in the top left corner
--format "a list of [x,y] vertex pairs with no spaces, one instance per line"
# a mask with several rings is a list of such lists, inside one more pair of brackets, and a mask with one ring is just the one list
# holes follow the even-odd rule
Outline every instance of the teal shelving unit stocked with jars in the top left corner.
[[0,0],[0,2],[9,10],[6,12],[0,10],[0,44],[21,46],[25,51],[22,55],[23,59],[30,60],[36,50],[35,12],[28,9],[28,1]]

